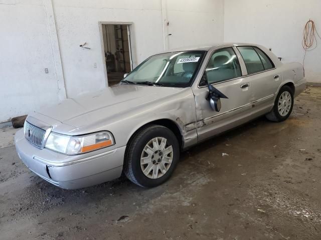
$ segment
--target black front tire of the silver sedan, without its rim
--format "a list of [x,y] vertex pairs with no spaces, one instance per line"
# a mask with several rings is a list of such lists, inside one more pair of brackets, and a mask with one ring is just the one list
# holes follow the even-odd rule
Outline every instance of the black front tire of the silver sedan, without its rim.
[[[173,147],[173,160],[167,172],[159,178],[147,177],[140,165],[140,157],[146,144],[154,137],[165,137]],[[142,187],[154,187],[167,181],[175,170],[180,158],[180,145],[177,137],[169,128],[162,125],[147,125],[139,129],[129,140],[125,151],[123,172],[129,180]]]

